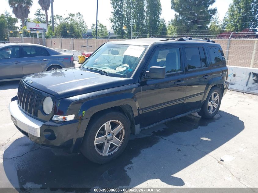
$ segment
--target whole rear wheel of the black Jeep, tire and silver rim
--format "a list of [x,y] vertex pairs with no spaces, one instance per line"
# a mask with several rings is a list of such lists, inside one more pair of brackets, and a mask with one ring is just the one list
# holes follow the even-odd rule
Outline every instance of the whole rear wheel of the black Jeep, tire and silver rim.
[[[218,96],[218,98],[217,98]],[[213,100],[214,97],[214,100]],[[217,99],[216,99],[217,98]],[[212,119],[220,109],[222,95],[218,87],[213,87],[202,105],[201,111],[198,114],[206,119]]]

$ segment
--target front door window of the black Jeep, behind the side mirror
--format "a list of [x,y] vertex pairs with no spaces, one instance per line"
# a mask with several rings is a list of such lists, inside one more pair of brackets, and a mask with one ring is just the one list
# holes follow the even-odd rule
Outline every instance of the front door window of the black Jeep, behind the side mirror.
[[181,71],[180,49],[166,48],[156,50],[151,57],[147,70],[149,70],[151,66],[165,67],[166,73]]

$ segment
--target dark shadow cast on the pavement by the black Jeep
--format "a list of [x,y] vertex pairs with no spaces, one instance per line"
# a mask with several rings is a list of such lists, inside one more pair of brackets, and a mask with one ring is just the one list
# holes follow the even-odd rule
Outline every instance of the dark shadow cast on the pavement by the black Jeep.
[[[4,152],[5,175],[15,188],[134,187],[150,179],[183,186],[173,177],[234,138],[244,129],[238,117],[219,111],[212,120],[196,114],[170,121],[132,136],[122,155],[107,164],[90,162],[82,154],[67,154],[28,138],[16,139]],[[209,138],[211,141],[202,140]],[[137,169],[137,170],[136,170]]]

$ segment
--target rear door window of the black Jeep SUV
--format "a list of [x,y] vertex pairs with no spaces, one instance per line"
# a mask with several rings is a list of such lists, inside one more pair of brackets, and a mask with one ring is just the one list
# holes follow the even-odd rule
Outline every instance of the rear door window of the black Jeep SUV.
[[185,48],[185,53],[188,70],[207,66],[205,53],[202,47]]

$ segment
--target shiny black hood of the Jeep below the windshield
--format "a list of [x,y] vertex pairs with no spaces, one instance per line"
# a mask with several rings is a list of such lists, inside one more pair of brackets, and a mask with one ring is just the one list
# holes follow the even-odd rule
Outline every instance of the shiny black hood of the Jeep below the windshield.
[[31,87],[53,95],[57,99],[133,84],[131,78],[108,77],[82,71],[79,68],[32,74],[23,80]]

